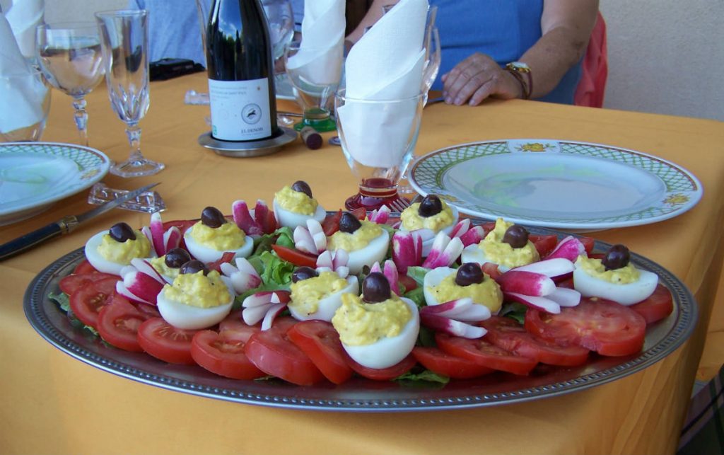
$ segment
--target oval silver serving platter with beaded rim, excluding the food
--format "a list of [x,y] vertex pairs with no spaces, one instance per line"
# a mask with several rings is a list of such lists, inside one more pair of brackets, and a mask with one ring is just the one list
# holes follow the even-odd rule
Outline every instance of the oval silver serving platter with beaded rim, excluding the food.
[[[534,227],[530,230],[554,232]],[[595,244],[598,251],[608,247],[599,241]],[[644,348],[639,354],[626,357],[592,354],[589,362],[579,367],[539,364],[528,376],[496,372],[471,380],[451,380],[446,385],[353,378],[342,385],[324,382],[301,387],[282,380],[232,380],[201,367],[167,364],[143,353],[113,348],[85,329],[74,327],[49,299],[50,293],[60,292],[60,278],[83,260],[83,249],[62,256],[33,279],[25,292],[24,309],[30,325],[64,353],[114,375],[171,391],[286,409],[338,412],[468,409],[550,398],[610,383],[651,366],[681,346],[696,325],[694,297],[660,265],[638,254],[631,254],[631,258],[636,267],[659,275],[660,283],[671,291],[674,302],[672,314],[647,327]]]

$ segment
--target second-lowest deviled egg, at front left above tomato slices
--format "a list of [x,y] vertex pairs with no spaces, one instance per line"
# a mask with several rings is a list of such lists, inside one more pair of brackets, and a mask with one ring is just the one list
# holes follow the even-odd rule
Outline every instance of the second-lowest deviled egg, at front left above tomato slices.
[[181,267],[172,284],[156,298],[161,317],[180,329],[195,330],[217,324],[231,312],[234,296],[219,272],[192,260]]

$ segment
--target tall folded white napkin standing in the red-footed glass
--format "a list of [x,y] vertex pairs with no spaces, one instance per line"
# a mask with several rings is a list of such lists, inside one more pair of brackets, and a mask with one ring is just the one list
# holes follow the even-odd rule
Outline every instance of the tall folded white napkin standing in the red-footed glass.
[[337,109],[347,151],[369,167],[399,166],[418,103],[386,109],[362,100],[410,99],[421,93],[427,0],[400,0],[353,46],[345,62],[347,101]]

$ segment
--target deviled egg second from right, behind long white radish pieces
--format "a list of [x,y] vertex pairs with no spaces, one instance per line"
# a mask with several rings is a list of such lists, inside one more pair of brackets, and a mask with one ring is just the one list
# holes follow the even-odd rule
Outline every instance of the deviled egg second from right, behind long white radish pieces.
[[541,259],[536,246],[529,240],[528,230],[502,218],[497,219],[495,228],[483,240],[466,246],[460,258],[463,263],[497,264],[501,272]]

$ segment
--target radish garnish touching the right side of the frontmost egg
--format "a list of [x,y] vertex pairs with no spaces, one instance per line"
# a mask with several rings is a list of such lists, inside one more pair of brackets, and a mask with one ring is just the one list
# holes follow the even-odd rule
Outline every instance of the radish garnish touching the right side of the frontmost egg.
[[468,297],[424,306],[420,310],[422,325],[463,338],[481,338],[485,335],[487,330],[469,322],[480,322],[489,317],[490,310],[486,306],[473,304],[473,299]]

